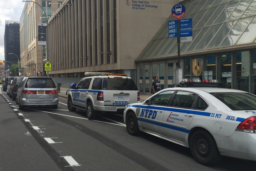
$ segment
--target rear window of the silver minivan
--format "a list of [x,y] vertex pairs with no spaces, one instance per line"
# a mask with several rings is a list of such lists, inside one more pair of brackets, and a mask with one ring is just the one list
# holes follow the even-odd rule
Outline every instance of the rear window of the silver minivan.
[[28,78],[25,88],[56,88],[51,78]]

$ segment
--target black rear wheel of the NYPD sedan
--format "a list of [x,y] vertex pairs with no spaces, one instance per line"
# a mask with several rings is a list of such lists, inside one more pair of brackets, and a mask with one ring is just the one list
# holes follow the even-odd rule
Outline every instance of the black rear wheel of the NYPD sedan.
[[198,130],[191,136],[190,150],[196,161],[202,165],[214,165],[221,160],[214,138],[203,130]]

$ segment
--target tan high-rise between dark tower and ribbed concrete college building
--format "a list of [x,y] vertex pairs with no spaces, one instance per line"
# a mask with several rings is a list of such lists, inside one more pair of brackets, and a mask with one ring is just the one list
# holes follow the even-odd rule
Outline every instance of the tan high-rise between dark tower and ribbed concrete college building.
[[[50,18],[63,3],[58,0],[31,0],[24,3],[24,9],[19,22],[21,73],[24,76],[45,76],[46,63],[45,45],[38,44],[38,23],[46,23],[46,15]],[[42,6],[45,13],[41,9]],[[39,73],[38,73],[39,72]]]

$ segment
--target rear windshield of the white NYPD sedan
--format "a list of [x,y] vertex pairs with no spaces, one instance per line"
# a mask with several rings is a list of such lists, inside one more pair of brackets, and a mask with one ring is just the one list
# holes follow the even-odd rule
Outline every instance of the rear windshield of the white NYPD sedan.
[[210,93],[233,111],[256,110],[256,96],[250,93]]

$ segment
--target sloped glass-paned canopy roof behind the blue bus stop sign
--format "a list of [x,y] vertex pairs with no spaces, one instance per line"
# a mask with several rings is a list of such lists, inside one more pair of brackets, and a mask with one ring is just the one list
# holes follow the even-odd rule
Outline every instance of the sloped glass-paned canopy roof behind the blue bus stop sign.
[[[193,19],[193,41],[181,42],[180,52],[256,42],[256,0],[191,0],[182,19]],[[168,37],[168,21],[137,59],[177,53],[177,37]]]

